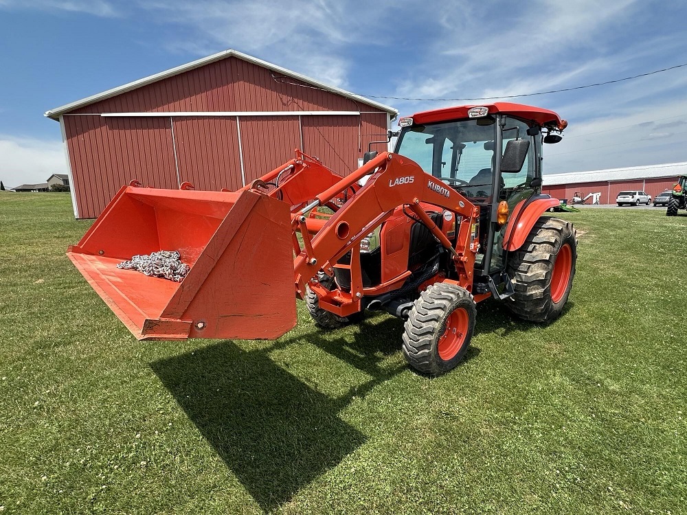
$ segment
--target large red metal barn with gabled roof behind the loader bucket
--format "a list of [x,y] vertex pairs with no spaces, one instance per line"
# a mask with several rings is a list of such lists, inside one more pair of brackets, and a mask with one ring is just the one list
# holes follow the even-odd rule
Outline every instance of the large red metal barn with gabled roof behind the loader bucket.
[[[236,190],[295,148],[346,175],[398,112],[235,50],[47,111],[60,122],[76,218],[122,185]],[[374,147],[386,150],[383,145]]]

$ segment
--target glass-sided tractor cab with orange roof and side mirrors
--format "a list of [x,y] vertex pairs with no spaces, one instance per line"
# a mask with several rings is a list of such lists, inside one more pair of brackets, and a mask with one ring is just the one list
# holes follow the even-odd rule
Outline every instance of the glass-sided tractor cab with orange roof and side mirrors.
[[502,271],[508,218],[541,192],[542,141],[559,139],[550,133],[563,130],[565,122],[552,111],[497,102],[425,111],[401,118],[399,125],[397,154],[480,205],[477,273]]

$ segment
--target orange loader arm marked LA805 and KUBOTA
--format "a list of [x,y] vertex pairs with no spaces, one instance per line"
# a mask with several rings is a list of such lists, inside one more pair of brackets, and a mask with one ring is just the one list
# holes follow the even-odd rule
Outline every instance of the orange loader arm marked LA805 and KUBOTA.
[[[341,206],[311,238],[307,229],[306,211],[317,205],[330,203],[339,198],[341,192],[357,183],[362,176],[372,173],[370,179],[348,201]],[[452,211],[460,220],[455,246],[425,213],[421,203]],[[294,234],[300,231],[303,248],[294,238],[297,256],[294,260],[294,279],[297,297],[303,298],[306,283],[322,270],[332,275],[333,268],[343,255],[351,252],[349,292],[337,290],[324,298],[320,304],[346,316],[360,310],[363,285],[359,261],[360,242],[377,225],[389,218],[394,209],[407,206],[441,242],[451,255],[460,277],[459,284],[471,289],[477,231],[473,224],[479,218],[479,207],[467,198],[447,187],[438,179],[426,174],[420,166],[401,155],[384,152],[359,168],[350,176],[330,187],[311,205],[292,216]],[[397,278],[398,286],[408,274]]]

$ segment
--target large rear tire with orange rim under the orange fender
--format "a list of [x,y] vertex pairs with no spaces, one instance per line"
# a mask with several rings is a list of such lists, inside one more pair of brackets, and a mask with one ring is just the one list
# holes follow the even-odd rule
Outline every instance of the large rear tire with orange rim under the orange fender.
[[539,218],[523,246],[508,259],[506,271],[515,293],[506,306],[530,322],[554,321],[570,295],[576,262],[572,223]]

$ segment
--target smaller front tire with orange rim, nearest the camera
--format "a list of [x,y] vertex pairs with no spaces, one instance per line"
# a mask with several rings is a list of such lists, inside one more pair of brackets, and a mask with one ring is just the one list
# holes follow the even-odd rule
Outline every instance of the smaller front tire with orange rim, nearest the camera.
[[403,355],[423,374],[439,376],[465,355],[475,329],[475,301],[453,284],[432,284],[420,294],[405,322]]

